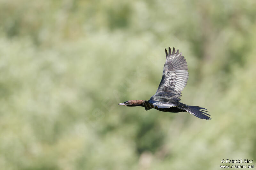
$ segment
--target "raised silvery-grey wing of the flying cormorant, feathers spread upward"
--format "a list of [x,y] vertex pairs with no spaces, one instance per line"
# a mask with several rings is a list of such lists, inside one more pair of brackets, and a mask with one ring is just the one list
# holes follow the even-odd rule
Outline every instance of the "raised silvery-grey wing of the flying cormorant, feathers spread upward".
[[177,97],[181,97],[181,91],[188,81],[188,65],[184,56],[179,53],[179,49],[175,53],[175,48],[169,54],[165,49],[166,61],[164,64],[163,77],[158,86],[158,92],[174,92]]

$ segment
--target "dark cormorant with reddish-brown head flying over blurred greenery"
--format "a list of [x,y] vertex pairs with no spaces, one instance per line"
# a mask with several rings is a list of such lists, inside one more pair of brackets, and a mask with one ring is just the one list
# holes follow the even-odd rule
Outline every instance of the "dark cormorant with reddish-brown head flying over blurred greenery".
[[181,91],[188,81],[188,65],[184,56],[179,53],[179,49],[175,53],[175,48],[171,51],[169,47],[169,52],[165,48],[165,55],[163,76],[156,94],[149,100],[128,100],[118,105],[142,106],[146,110],[154,108],[163,112],[188,112],[200,119],[211,119],[206,108],[180,102]]

